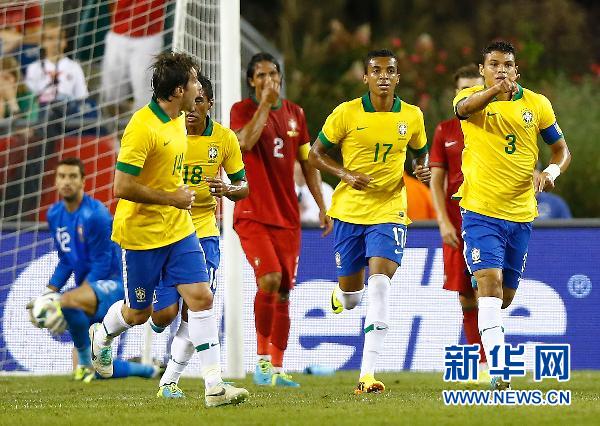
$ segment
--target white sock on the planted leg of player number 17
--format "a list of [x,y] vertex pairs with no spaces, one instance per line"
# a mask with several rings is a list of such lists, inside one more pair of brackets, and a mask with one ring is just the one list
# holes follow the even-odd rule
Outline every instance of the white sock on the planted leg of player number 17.
[[383,350],[389,329],[388,294],[391,280],[387,275],[373,274],[368,280],[369,306],[365,318],[365,344],[360,377],[374,374],[377,357]]

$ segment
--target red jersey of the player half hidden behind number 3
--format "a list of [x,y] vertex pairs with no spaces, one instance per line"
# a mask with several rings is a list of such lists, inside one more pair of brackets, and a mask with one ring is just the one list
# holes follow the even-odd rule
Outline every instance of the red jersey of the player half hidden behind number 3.
[[429,152],[429,165],[446,169],[448,182],[446,210],[450,221],[457,229],[460,229],[461,226],[460,208],[458,200],[453,200],[451,197],[452,194],[458,191],[463,181],[460,166],[464,147],[465,142],[458,118],[452,118],[438,124],[435,128],[435,135]]

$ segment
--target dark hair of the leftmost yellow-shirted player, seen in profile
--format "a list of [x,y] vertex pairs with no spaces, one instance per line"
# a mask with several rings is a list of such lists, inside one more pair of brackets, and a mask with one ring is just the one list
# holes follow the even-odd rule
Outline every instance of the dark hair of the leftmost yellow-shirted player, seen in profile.
[[198,62],[182,52],[163,52],[152,64],[153,97],[168,101],[178,87],[187,86],[192,69],[200,70]]

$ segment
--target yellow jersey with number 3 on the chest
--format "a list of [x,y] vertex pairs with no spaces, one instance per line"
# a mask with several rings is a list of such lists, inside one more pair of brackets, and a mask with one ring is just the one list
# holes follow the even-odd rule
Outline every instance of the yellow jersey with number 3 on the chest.
[[[483,88],[460,91],[454,98],[454,108]],[[537,216],[533,189],[537,135],[555,122],[550,101],[520,85],[513,100],[492,101],[461,120],[464,182],[454,195],[461,199],[461,207],[498,219],[531,222]]]

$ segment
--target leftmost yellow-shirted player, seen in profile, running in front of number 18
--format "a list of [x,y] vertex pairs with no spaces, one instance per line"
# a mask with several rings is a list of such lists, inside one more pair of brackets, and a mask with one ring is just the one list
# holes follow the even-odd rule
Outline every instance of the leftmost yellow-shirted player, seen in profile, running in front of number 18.
[[152,313],[160,281],[175,287],[188,306],[189,334],[202,362],[207,406],[237,403],[248,391],[223,383],[213,294],[189,210],[194,192],[183,183],[187,151],[184,111],[199,93],[198,65],[183,53],[165,52],[153,64],[150,103],[129,121],[117,158],[119,197],[112,238],[124,251],[125,303],[112,305],[90,327],[92,364],[110,377],[112,340]]

